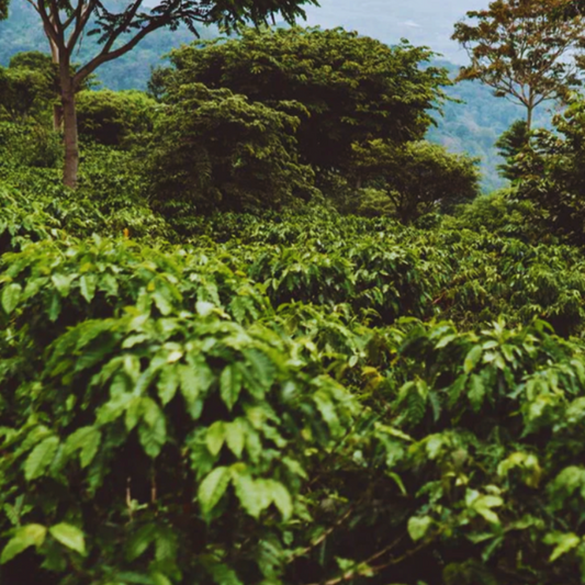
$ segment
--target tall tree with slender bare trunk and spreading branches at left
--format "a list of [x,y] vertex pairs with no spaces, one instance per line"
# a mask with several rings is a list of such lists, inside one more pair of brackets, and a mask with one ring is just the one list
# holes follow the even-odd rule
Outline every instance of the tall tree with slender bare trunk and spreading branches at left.
[[[160,0],[144,5],[144,0],[121,0],[104,4],[100,0],[27,0],[37,12],[58,64],[63,104],[65,168],[64,182],[75,187],[79,165],[76,91],[100,65],[132,50],[149,33],[185,24],[196,35],[195,24],[221,24],[227,30],[248,22],[260,23],[280,14],[286,22],[303,16],[303,4],[316,0]],[[0,0],[0,19],[5,18],[9,0]],[[71,57],[85,34],[94,34],[101,46],[97,55],[77,70]]]

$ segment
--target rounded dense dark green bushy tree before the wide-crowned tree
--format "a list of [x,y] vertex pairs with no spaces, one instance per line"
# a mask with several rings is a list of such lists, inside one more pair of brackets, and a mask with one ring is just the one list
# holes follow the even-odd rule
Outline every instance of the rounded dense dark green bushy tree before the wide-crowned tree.
[[150,146],[153,200],[166,215],[279,206],[311,189],[299,165],[299,120],[228,89],[185,85],[169,94]]

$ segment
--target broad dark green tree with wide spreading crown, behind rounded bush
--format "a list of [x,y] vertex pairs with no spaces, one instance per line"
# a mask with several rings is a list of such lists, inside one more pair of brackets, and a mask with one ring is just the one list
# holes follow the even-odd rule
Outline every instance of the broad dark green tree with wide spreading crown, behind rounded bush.
[[421,138],[449,83],[432,53],[395,47],[341,29],[245,30],[171,53],[175,85],[228,88],[301,119],[299,151],[316,168],[344,171],[351,145],[379,137]]

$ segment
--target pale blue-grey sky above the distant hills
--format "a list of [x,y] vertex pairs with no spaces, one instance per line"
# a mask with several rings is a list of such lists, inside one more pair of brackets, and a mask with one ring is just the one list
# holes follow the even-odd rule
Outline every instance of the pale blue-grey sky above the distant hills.
[[490,0],[320,0],[308,7],[307,24],[342,26],[393,44],[407,38],[425,45],[455,64],[465,52],[450,40],[453,24],[469,10],[487,8]]

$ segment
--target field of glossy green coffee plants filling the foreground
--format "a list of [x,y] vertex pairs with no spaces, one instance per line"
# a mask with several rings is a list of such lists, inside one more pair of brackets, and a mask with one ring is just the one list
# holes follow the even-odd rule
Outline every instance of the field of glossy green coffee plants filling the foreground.
[[0,191],[2,583],[585,580],[580,249],[86,169]]

